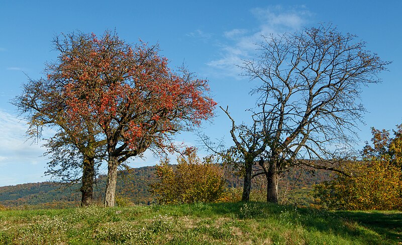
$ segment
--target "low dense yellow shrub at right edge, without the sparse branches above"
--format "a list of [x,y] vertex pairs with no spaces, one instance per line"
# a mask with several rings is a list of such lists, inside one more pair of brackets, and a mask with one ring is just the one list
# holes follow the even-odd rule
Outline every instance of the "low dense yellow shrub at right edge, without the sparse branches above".
[[354,162],[353,175],[314,187],[314,196],[332,209],[392,210],[402,207],[400,169],[386,161]]

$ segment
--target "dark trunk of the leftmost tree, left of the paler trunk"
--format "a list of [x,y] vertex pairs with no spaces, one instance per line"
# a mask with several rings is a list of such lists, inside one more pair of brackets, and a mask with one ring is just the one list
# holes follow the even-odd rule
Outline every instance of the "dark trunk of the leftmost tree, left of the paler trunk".
[[94,170],[95,161],[93,157],[84,156],[82,165],[82,186],[81,191],[81,206],[89,206],[92,204],[93,197],[93,178],[95,177]]

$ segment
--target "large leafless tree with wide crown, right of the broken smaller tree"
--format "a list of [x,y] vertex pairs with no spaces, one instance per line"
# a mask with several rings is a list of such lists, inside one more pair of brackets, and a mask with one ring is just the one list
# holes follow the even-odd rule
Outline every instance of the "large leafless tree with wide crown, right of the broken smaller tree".
[[278,177],[295,165],[342,172],[339,159],[352,148],[365,112],[361,89],[378,83],[378,72],[390,63],[364,48],[355,35],[321,24],[264,37],[258,58],[244,61],[243,75],[260,81],[249,128],[258,128],[266,144],[259,165],[268,202],[278,201]]

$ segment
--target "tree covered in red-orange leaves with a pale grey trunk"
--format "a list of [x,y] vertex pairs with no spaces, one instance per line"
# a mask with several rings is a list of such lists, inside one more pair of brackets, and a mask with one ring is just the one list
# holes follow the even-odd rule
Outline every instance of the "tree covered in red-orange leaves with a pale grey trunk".
[[116,33],[56,38],[57,62],[48,79],[64,83],[65,112],[76,132],[86,122],[102,128],[108,154],[105,206],[112,207],[118,166],[145,150],[175,150],[173,136],[213,115],[207,80],[176,73],[158,46],[129,45]]

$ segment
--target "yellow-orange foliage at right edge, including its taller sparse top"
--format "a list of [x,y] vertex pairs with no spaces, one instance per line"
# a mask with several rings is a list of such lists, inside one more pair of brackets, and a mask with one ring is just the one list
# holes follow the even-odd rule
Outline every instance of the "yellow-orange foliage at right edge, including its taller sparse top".
[[373,145],[366,143],[363,159],[348,163],[348,176],[340,174],[333,181],[315,186],[314,195],[334,209],[401,209],[400,155],[394,151],[400,142],[400,127],[394,138],[384,129],[372,128]]

